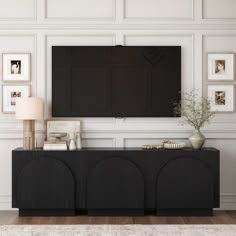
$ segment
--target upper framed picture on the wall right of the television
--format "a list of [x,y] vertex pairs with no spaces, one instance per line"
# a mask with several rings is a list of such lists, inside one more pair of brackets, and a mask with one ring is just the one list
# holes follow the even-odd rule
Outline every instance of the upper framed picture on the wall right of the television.
[[208,80],[234,80],[234,54],[208,54]]

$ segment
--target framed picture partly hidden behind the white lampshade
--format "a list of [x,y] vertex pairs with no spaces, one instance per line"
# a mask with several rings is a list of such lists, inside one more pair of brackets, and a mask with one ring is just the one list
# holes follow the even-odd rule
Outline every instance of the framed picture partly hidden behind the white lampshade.
[[3,85],[2,112],[14,113],[16,98],[29,97],[29,85]]

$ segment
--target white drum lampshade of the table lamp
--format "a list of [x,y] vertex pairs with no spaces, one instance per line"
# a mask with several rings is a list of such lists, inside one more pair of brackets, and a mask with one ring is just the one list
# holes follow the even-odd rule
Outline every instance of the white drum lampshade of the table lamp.
[[43,100],[41,98],[34,98],[34,97],[17,98],[16,119],[42,120]]

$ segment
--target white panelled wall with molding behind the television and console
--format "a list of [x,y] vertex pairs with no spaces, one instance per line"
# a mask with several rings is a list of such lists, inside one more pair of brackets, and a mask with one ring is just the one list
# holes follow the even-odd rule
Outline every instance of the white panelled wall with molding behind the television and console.
[[[45,119],[52,45],[181,45],[186,91],[202,91],[207,52],[236,52],[235,0],[0,0],[0,6],[0,53],[32,54],[32,94],[45,99]],[[1,77],[2,66],[2,83]],[[140,146],[192,132],[176,118],[81,120],[84,146]],[[38,123],[38,140],[44,132]],[[204,134],[207,146],[221,150],[221,207],[236,209],[236,114],[217,115]],[[0,209],[11,208],[11,150],[21,138],[22,123],[0,114]]]

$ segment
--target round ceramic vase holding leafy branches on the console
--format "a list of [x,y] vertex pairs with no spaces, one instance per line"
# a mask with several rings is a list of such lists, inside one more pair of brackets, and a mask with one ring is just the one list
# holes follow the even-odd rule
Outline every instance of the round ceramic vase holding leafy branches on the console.
[[193,149],[200,149],[205,142],[205,137],[200,129],[209,123],[214,115],[210,100],[199,97],[196,90],[184,93],[182,101],[174,103],[174,114],[181,115],[180,122],[182,124],[188,124],[195,129],[194,134],[189,137],[189,141]]

